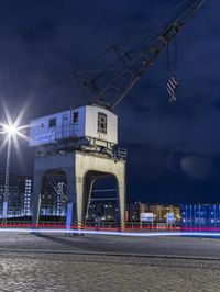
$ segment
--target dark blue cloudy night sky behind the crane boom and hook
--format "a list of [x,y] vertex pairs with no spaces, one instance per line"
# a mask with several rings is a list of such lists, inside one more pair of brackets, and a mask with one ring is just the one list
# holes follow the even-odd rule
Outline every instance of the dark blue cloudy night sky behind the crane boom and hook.
[[[190,1],[189,1],[190,2]],[[193,1],[191,1],[193,2]],[[70,72],[100,69],[100,53],[179,0],[0,0],[0,97],[21,124],[78,100]],[[170,104],[166,52],[116,109],[128,149],[128,200],[220,201],[220,1],[207,0],[178,35],[179,88]],[[174,47],[170,47],[174,52]],[[170,55],[174,55],[170,53]],[[4,120],[1,106],[1,120]],[[11,171],[33,173],[20,141]],[[1,149],[1,171],[6,149]]]

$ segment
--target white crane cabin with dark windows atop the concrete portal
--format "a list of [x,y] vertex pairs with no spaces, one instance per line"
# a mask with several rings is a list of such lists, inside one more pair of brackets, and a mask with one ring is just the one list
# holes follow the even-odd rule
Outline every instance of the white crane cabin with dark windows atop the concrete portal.
[[118,116],[103,108],[85,105],[31,121],[32,147],[69,138],[78,145],[111,149],[118,144]]

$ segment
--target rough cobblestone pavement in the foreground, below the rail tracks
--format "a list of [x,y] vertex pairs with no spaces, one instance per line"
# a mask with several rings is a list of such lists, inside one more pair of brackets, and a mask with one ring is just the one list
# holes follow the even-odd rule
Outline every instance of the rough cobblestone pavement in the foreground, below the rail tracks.
[[[185,260],[186,261],[186,260]],[[108,258],[38,257],[1,258],[1,291],[220,291],[220,270],[160,265],[160,260],[125,263]],[[155,265],[155,266],[154,266]],[[186,265],[186,262],[185,262]],[[196,263],[198,265],[198,263]],[[199,265],[198,265],[199,266]]]

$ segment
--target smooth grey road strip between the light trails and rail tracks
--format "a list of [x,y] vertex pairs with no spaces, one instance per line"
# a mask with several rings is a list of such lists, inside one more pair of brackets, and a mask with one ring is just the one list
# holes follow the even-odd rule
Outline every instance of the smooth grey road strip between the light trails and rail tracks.
[[178,255],[196,257],[219,257],[220,239],[195,237],[120,237],[85,235],[65,237],[64,235],[0,234],[0,250],[63,250],[118,254]]

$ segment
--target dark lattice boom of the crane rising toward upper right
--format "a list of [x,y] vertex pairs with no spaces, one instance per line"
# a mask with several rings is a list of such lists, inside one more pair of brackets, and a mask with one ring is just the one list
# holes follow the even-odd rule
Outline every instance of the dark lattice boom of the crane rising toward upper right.
[[[147,71],[187,21],[199,10],[205,0],[184,0],[178,3],[178,13],[163,23],[157,33],[143,30],[133,38],[112,46],[116,61],[90,79],[76,74],[87,101],[113,110]],[[158,25],[160,26],[160,25]]]

